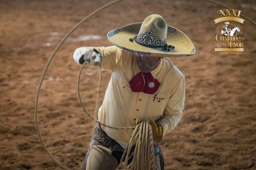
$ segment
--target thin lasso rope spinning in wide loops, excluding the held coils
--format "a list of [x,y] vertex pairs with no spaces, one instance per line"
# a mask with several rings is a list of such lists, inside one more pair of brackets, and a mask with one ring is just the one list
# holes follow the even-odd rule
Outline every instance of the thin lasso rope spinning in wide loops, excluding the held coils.
[[[91,14],[87,15],[84,19],[82,19],[79,23],[76,24],[76,26],[74,26],[72,28],[72,30],[70,30],[65,36],[64,38],[61,40],[61,42],[59,43],[59,45],[56,47],[56,49],[54,50],[54,52],[52,53],[50,59],[48,60],[47,64],[46,64],[46,67],[45,69],[43,70],[43,74],[41,76],[41,79],[39,81],[39,85],[38,85],[38,88],[37,88],[37,94],[36,94],[36,99],[35,99],[35,124],[36,124],[36,128],[37,128],[37,133],[39,135],[39,139],[43,145],[43,148],[45,149],[46,153],[52,158],[52,160],[58,164],[59,166],[61,166],[61,168],[64,168],[66,170],[70,170],[69,168],[67,168],[65,165],[62,165],[47,149],[46,145],[44,144],[43,142],[43,139],[42,139],[42,136],[41,136],[41,133],[40,133],[40,130],[39,130],[39,124],[38,124],[38,98],[39,98],[39,92],[40,92],[40,89],[41,89],[41,85],[43,83],[43,78],[46,74],[46,71],[48,69],[48,67],[50,66],[50,63],[54,57],[54,55],[56,54],[56,52],[59,50],[59,48],[61,47],[61,45],[65,42],[65,40],[68,38],[68,36],[70,34],[72,34],[72,32],[74,32],[74,30],[76,30],[76,28],[78,28],[78,26],[80,26],[82,23],[85,22],[86,19],[88,19],[89,17],[95,15],[96,13],[100,12],[102,9],[108,7],[108,6],[111,6],[112,4],[115,4],[117,2],[120,2],[122,0],[113,0],[111,2],[109,2],[108,4],[105,4],[104,6],[96,9],[95,11],[93,11]],[[224,6],[225,8],[228,8],[228,9],[231,9],[230,7],[224,5],[224,4],[221,4],[220,2],[217,2],[215,0],[207,0],[209,2],[212,2],[212,3],[215,3],[215,4],[219,4],[221,6]],[[252,21],[251,19],[249,19],[248,17],[246,17],[245,15],[242,15],[242,17],[244,17],[246,20],[248,20],[249,22],[251,22],[254,26],[256,26],[256,23],[254,21]],[[80,72],[82,70],[84,65],[82,65],[81,69],[80,69]],[[100,68],[100,67],[99,67]],[[101,69],[100,69],[101,70]],[[98,93],[97,93],[97,101],[96,101],[96,106],[95,106],[95,110],[97,110],[97,106],[98,106],[98,96],[99,96],[99,87],[100,87],[100,79],[101,79],[101,71],[99,72],[100,76],[99,76],[99,83],[98,83]],[[80,73],[79,73],[79,77],[78,77],[78,95],[80,96],[79,94],[79,79],[80,79]],[[79,99],[80,100],[80,99]],[[84,108],[84,106],[82,105],[82,101],[80,100],[80,104],[82,106],[82,108],[85,110],[85,112],[87,113],[86,109]],[[96,111],[95,111],[96,113]],[[93,119],[88,113],[87,115]],[[104,124],[102,124],[104,125]],[[108,126],[108,125],[105,125],[106,127],[110,127],[110,128],[115,128],[115,129],[135,129],[135,127],[111,127],[111,126]]]

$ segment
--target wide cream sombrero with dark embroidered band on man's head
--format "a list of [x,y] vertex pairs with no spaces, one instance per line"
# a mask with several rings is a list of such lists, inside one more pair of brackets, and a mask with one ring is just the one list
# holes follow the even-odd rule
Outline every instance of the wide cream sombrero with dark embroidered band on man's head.
[[142,23],[133,23],[108,32],[115,46],[141,55],[182,57],[195,54],[195,46],[180,30],[168,26],[160,15],[150,15]]

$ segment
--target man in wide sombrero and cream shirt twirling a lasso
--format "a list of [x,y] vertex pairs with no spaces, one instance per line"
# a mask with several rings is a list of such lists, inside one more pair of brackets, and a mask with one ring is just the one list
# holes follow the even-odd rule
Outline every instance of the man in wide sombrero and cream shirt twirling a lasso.
[[[150,15],[108,32],[111,47],[80,47],[77,64],[86,62],[111,70],[98,121],[114,127],[132,127],[140,121],[152,125],[156,170],[163,170],[158,142],[174,130],[182,117],[185,78],[168,57],[195,53],[191,40],[168,26],[160,15]],[[96,123],[82,170],[115,170],[132,130],[115,130]]]

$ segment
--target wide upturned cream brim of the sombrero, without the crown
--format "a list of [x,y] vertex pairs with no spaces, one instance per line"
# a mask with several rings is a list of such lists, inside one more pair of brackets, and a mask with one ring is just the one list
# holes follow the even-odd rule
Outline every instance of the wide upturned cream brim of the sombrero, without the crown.
[[195,46],[189,37],[180,30],[167,26],[167,38],[168,45],[172,45],[175,48],[166,51],[163,48],[152,48],[139,45],[136,42],[131,42],[129,39],[138,35],[141,28],[141,23],[133,23],[121,28],[117,28],[108,32],[108,40],[115,46],[129,51],[131,53],[138,53],[142,55],[152,55],[156,57],[182,57],[195,54]]

